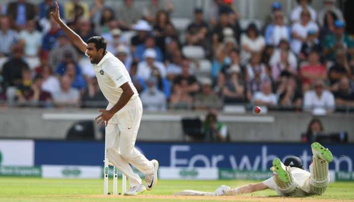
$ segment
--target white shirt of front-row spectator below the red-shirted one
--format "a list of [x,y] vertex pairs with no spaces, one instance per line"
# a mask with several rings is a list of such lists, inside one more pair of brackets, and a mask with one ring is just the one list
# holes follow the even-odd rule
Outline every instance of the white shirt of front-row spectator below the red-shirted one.
[[334,96],[330,91],[323,90],[321,97],[318,97],[315,90],[309,90],[305,92],[303,107],[305,110],[312,108],[334,109]]

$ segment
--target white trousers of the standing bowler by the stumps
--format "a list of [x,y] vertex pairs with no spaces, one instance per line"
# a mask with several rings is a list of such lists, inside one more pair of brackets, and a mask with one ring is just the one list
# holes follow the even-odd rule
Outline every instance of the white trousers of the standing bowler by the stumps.
[[[113,106],[108,105],[107,109]],[[153,164],[135,148],[137,133],[143,114],[143,105],[136,97],[117,112],[106,126],[106,149],[108,161],[124,173],[130,187],[142,184],[138,174],[135,174],[129,163],[140,172],[150,174],[154,172]]]

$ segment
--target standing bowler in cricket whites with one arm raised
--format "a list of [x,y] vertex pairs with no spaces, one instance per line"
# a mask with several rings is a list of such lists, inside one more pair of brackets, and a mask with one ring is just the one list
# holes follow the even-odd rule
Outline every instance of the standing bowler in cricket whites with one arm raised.
[[[109,104],[96,118],[99,125],[106,125],[105,170],[112,163],[129,178],[130,189],[125,195],[136,195],[151,190],[157,182],[158,162],[149,161],[135,148],[135,141],[143,113],[143,106],[137,89],[132,84],[123,63],[106,51],[103,37],[94,36],[86,42],[72,31],[61,19],[59,6],[52,17],[60,25],[70,41],[90,58],[100,89]],[[146,174],[146,187],[130,165]],[[108,192],[108,176],[105,175],[105,193]]]

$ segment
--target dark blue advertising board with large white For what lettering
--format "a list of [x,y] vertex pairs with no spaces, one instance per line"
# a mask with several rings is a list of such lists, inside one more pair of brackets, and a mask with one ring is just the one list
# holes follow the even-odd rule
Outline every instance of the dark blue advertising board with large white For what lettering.
[[[352,144],[325,145],[335,156],[330,169],[352,171]],[[238,170],[268,170],[276,157],[302,159],[308,169],[312,160],[309,144],[295,143],[147,143],[137,147],[148,159],[167,167],[218,167]],[[103,165],[104,143],[91,141],[35,141],[35,165]]]

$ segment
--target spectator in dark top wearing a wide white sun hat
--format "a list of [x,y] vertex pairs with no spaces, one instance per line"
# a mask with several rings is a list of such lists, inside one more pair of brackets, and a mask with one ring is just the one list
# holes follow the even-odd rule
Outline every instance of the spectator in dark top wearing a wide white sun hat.
[[152,27],[145,20],[139,20],[137,24],[132,26],[132,29],[137,32],[137,35],[130,39],[130,44],[133,47],[143,44],[152,31]]

